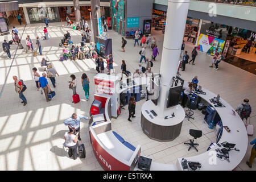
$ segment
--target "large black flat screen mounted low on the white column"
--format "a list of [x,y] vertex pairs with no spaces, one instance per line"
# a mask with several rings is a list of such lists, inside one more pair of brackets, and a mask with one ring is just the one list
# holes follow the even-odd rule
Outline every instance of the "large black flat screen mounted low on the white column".
[[167,108],[176,106],[179,104],[182,87],[183,86],[180,85],[180,86],[176,86],[174,88],[170,88],[167,105],[166,105]]

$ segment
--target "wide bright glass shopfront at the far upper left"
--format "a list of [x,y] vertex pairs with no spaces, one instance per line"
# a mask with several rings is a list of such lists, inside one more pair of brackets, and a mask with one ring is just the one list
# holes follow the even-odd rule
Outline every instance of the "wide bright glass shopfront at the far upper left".
[[60,22],[58,7],[27,7],[30,23],[43,23],[47,16],[49,22]]

